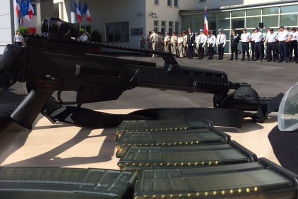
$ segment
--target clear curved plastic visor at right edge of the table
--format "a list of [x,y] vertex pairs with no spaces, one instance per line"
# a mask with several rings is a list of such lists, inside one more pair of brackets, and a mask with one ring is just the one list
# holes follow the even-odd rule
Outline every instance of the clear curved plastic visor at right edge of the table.
[[298,83],[284,96],[278,110],[278,128],[280,131],[298,129]]

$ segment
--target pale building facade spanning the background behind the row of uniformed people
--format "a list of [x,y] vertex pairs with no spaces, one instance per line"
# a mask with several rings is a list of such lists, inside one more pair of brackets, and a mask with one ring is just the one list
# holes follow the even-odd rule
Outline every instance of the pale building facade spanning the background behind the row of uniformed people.
[[[78,3],[78,0],[75,0]],[[12,43],[19,26],[15,16],[15,0],[1,0],[0,45]],[[208,8],[209,29],[223,28],[229,35],[259,26],[277,29],[280,25],[298,26],[298,0],[81,0],[87,2],[92,22],[83,18],[81,27],[88,32],[98,30],[102,41],[131,47],[139,46],[142,32],[148,36],[160,32],[181,32],[189,27],[204,27],[204,9]],[[76,22],[74,0],[32,0],[36,7],[36,30],[44,17],[55,16]],[[0,47],[3,50],[4,47]],[[225,48],[229,52],[228,48]]]

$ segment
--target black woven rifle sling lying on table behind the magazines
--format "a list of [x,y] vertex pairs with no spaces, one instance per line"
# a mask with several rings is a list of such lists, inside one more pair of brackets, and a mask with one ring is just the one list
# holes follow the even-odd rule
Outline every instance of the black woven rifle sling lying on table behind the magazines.
[[[247,113],[242,110],[230,109],[233,97],[243,94],[258,102],[257,113]],[[105,128],[118,126],[123,120],[165,120],[165,119],[204,119],[216,126],[240,128],[244,117],[251,117],[256,122],[263,122],[267,115],[278,109],[283,95],[280,94],[267,104],[261,104],[259,96],[250,87],[240,87],[228,95],[218,108],[151,108],[137,110],[129,114],[110,114],[75,106],[59,106],[51,113],[45,114],[50,120],[70,123],[77,126]],[[264,111],[265,110],[265,111]]]

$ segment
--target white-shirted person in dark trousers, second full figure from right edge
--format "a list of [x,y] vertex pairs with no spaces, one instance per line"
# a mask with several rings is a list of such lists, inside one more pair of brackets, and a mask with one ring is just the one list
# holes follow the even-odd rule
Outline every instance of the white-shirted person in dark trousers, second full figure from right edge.
[[279,63],[285,61],[289,62],[289,41],[292,39],[292,35],[290,36],[290,32],[285,30],[284,26],[281,26],[278,32],[278,52],[280,54]]

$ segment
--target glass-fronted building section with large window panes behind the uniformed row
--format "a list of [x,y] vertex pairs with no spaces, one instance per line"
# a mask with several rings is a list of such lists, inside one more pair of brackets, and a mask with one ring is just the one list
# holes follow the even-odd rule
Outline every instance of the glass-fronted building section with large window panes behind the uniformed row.
[[[264,28],[298,27],[297,0],[197,0],[196,9],[180,11],[182,29],[204,27],[204,9],[208,8],[209,29],[224,29],[230,35],[233,28],[239,34],[243,28],[252,30],[264,23]],[[229,48],[225,48],[229,52]]]

